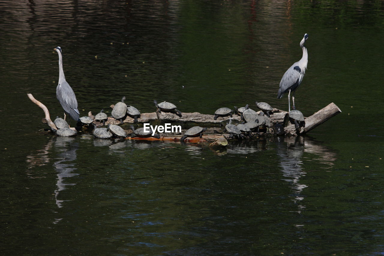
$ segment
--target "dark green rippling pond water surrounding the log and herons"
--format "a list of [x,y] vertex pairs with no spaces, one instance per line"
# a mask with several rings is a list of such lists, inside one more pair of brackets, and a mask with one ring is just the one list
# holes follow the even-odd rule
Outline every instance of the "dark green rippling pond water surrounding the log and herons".
[[[0,1],[2,255],[381,255],[382,1]],[[343,111],[308,136],[198,145],[62,138],[58,56],[81,115],[276,99]],[[96,58],[97,56],[97,58]]]

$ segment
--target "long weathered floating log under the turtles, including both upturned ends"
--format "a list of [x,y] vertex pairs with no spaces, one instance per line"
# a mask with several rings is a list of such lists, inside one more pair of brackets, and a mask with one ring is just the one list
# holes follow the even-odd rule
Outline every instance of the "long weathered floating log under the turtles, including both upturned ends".
[[[51,121],[49,111],[46,108],[45,105],[43,105],[40,101],[37,101],[31,94],[28,94],[28,98],[38,105],[40,108],[43,109],[45,113],[45,118],[43,118],[43,123],[47,123],[50,128],[57,130],[55,124]],[[111,105],[111,108],[113,108],[114,105]],[[260,113],[261,111],[258,111],[257,113]],[[284,121],[284,116],[287,111],[279,110],[279,109],[273,109],[273,115],[270,116],[270,121],[272,124],[274,123],[283,123]],[[308,118],[305,118],[305,128],[301,128],[300,134],[305,134],[312,129],[316,128],[318,125],[321,125],[324,123],[326,120],[329,118],[337,115],[338,113],[341,113],[341,110],[336,106],[334,103],[329,104],[328,106],[324,107],[323,109],[317,111],[313,115],[309,116]],[[88,116],[91,117],[94,120],[94,116],[92,115],[92,112],[88,112]],[[227,141],[230,136],[229,134],[223,133],[223,129],[225,125],[229,122],[232,122],[233,124],[240,123],[240,115],[234,114],[233,117],[231,118],[230,116],[225,116],[225,117],[218,117],[217,120],[214,120],[214,115],[207,115],[207,114],[201,114],[198,112],[194,113],[182,113],[182,118],[177,116],[174,113],[171,112],[164,112],[162,111],[159,113],[158,111],[152,112],[152,113],[142,113],[140,118],[138,118],[138,123],[141,125],[142,123],[151,123],[153,124],[161,124],[161,123],[173,123],[177,125],[181,125],[183,128],[186,127],[191,127],[194,125],[199,125],[203,127],[209,127],[207,132],[202,136],[202,139],[200,138],[187,138],[185,142],[190,142],[190,143],[203,143],[204,141],[207,143],[212,143],[215,142],[212,146],[219,146],[222,145],[224,146],[225,141]],[[93,122],[96,126],[101,126],[102,123],[94,121]],[[114,118],[108,117],[108,120],[105,122],[106,125],[108,124],[119,124],[120,121],[116,120]],[[126,128],[126,133],[130,134],[132,131],[129,129],[129,125],[134,123],[134,119],[127,116],[126,119],[124,120],[124,123],[121,125],[122,128]],[[71,128],[75,130],[75,128]],[[296,130],[294,125],[288,125],[285,127],[286,135],[296,135]],[[211,133],[211,134],[209,134]],[[261,135],[274,135],[273,127],[272,128],[264,128],[260,132]],[[258,135],[258,134],[253,134],[253,135]],[[130,140],[162,140],[162,141],[180,141],[181,134],[180,133],[175,133],[175,134],[161,134],[161,138],[128,138]],[[258,135],[259,136],[259,135]],[[220,140],[218,140],[220,138]]]

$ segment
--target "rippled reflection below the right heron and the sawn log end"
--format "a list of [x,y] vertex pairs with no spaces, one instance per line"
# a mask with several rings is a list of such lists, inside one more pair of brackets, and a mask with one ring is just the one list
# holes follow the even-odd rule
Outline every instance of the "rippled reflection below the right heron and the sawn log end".
[[[336,155],[325,146],[316,145],[314,141],[302,136],[296,138],[279,136],[276,138],[276,144],[277,155],[280,158],[279,166],[285,177],[283,180],[291,182],[291,189],[295,195],[293,201],[298,203],[303,200],[301,192],[304,188],[308,187],[305,184],[299,183],[300,178],[306,174],[303,171],[304,153],[316,155],[318,158],[313,159],[322,160],[321,163],[328,165],[328,167],[325,168],[332,167],[333,161],[336,160]],[[298,208],[298,213],[301,213],[301,210],[305,208],[305,206],[299,204]]]

